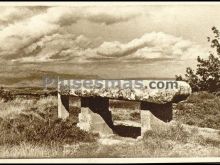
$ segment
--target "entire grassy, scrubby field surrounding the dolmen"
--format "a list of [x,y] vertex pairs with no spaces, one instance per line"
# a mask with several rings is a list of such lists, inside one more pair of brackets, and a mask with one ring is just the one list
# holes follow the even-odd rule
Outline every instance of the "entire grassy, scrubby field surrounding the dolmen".
[[[205,138],[181,126],[220,129],[220,98],[205,92],[174,105],[174,119],[179,123],[171,129],[147,132],[142,139],[117,135],[100,139],[84,132],[76,127],[78,109],[71,120],[57,119],[56,96],[4,97],[0,99],[0,158],[220,156],[220,138]],[[117,106],[120,103],[112,108]],[[129,119],[137,120],[136,113]]]

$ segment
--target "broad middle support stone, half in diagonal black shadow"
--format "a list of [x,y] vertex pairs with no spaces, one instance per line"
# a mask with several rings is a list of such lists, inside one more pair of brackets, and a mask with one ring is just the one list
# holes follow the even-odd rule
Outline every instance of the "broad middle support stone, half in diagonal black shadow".
[[109,99],[101,97],[81,98],[81,113],[77,126],[82,130],[100,135],[113,134]]

